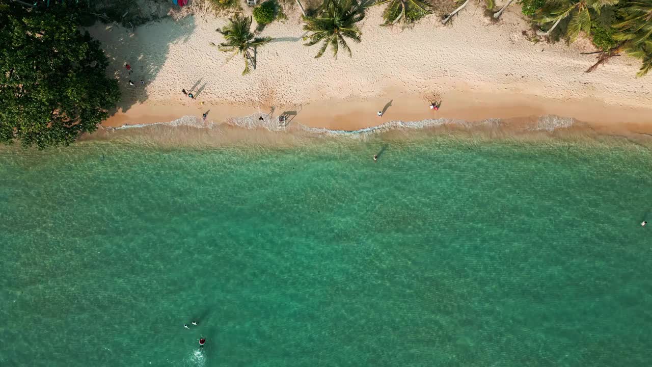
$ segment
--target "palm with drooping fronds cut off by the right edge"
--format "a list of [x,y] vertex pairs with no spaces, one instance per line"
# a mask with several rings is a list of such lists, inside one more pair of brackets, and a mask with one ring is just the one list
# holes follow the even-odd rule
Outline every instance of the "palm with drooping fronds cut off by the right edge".
[[614,24],[614,39],[623,42],[621,49],[629,56],[641,59],[642,65],[636,76],[644,76],[652,69],[652,0],[636,0],[625,3],[618,10],[623,22]]

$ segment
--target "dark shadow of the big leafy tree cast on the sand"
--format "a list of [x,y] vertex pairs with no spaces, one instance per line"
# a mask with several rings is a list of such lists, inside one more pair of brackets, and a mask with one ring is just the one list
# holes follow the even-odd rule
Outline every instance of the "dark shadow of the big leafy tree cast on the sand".
[[[170,44],[186,42],[195,28],[193,16],[181,20],[166,18],[145,24],[136,28],[134,33],[116,24],[96,22],[89,27],[89,33],[93,39],[102,42],[102,49],[109,59],[106,74],[117,79],[120,86],[121,101],[109,112],[110,116],[126,112],[134,104],[147,100],[149,95],[145,87],[155,80],[168,58]],[[126,69],[126,64],[130,65],[130,70]],[[134,86],[129,84],[129,80]],[[141,80],[144,86],[141,85]],[[179,86],[179,93],[182,88]]]

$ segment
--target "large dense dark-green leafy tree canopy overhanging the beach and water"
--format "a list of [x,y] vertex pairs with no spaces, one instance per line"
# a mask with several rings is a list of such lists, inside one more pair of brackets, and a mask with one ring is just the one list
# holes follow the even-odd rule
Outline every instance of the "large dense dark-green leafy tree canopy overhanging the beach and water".
[[74,12],[0,8],[0,141],[67,145],[93,132],[119,100],[100,44]]

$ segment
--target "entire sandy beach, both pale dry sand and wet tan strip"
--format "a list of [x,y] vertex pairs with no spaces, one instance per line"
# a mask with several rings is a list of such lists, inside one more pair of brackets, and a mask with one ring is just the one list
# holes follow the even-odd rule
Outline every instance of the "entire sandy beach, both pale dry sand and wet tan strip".
[[[286,114],[308,127],[357,130],[388,121],[434,118],[467,121],[554,114],[609,133],[652,133],[652,85],[635,78],[638,61],[614,57],[591,73],[595,49],[531,41],[531,27],[513,6],[494,24],[469,5],[447,26],[435,15],[402,27],[380,27],[381,8],[361,22],[363,42],[353,57],[314,59],[303,46],[301,18],[267,25],[275,40],[259,49],[255,71],[241,75],[243,59],[219,52],[215,29],[226,19],[194,14],[143,25],[132,34],[95,24],[91,35],[110,58],[123,101],[104,125],[160,123],[181,116],[222,122],[237,116]],[[245,8],[244,12],[250,12]],[[124,65],[129,63],[132,74]],[[129,86],[127,80],[144,80]],[[192,100],[181,93],[192,91]],[[433,112],[428,101],[440,99]],[[378,110],[385,110],[381,118]]]

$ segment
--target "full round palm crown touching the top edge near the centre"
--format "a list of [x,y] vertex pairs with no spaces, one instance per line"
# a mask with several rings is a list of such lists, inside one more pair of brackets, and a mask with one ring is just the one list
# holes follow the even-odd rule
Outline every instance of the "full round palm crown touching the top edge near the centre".
[[351,49],[346,44],[346,39],[359,43],[361,31],[355,25],[364,18],[364,12],[359,3],[355,0],[325,0],[317,16],[304,16],[306,24],[303,26],[304,31],[312,34],[303,37],[303,40],[309,40],[305,46],[313,46],[323,42],[317,56],[321,57],[329,45],[333,50],[333,56],[337,58],[337,51],[340,47],[344,48],[351,56]]

